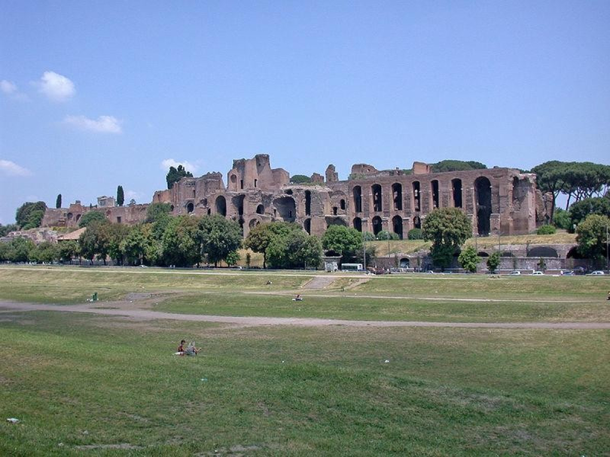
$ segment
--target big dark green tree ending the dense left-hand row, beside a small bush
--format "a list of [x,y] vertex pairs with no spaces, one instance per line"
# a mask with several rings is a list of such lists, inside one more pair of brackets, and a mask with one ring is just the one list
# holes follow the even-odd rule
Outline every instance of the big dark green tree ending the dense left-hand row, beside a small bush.
[[202,251],[214,265],[242,247],[242,228],[237,222],[218,214],[199,219],[199,232]]

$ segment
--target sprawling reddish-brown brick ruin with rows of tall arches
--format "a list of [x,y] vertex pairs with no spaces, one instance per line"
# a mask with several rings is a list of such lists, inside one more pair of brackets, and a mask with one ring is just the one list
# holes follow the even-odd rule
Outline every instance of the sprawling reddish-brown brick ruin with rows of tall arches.
[[[334,165],[325,175],[314,173],[306,185],[291,184],[289,172],[271,168],[269,156],[233,161],[224,184],[220,172],[184,177],[169,190],[156,191],[152,203],[168,203],[171,214],[220,214],[238,222],[244,236],[257,224],[287,221],[307,233],[322,235],[330,225],[362,232],[381,230],[406,238],[420,228],[434,208],[461,208],[472,221],[473,235],[530,233],[544,220],[545,201],[536,189],[536,175],[512,168],[431,172],[415,162],[412,170],[378,170],[356,164],[348,180],[339,180]],[[124,207],[49,208],[43,226],[77,227],[88,211],[100,211],[112,222],[137,224],[147,204]]]

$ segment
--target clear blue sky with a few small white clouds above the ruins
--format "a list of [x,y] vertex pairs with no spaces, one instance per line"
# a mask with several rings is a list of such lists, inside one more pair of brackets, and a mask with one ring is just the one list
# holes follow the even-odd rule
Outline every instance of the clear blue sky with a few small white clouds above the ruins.
[[12,1],[0,223],[25,201],[149,202],[167,164],[609,163],[610,2]]

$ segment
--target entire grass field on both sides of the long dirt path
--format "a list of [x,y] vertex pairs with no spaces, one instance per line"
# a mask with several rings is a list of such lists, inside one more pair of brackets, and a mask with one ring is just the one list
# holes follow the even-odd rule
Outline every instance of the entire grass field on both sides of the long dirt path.
[[[166,272],[1,268],[0,299],[69,305],[95,289],[104,306],[144,290],[166,298],[152,306],[180,313],[610,321],[608,278],[341,278],[296,305],[288,294],[307,275]],[[182,338],[202,352],[173,356]],[[608,330],[242,327],[5,311],[0,411],[21,422],[0,423],[0,455],[608,455],[609,347]]]

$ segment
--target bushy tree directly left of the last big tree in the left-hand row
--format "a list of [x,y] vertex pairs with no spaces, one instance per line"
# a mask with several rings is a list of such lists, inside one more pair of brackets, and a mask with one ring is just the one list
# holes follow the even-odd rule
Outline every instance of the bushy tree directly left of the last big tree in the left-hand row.
[[193,266],[201,261],[199,221],[190,216],[171,218],[163,232],[163,260],[167,265]]

